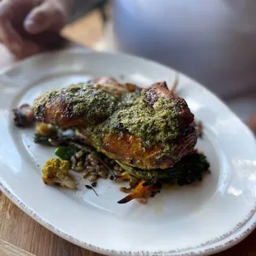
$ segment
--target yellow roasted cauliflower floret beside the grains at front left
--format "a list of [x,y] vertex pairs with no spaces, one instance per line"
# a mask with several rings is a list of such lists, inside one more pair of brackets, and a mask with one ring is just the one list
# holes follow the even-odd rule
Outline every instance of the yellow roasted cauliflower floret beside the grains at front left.
[[42,170],[43,182],[46,185],[50,183],[58,183],[63,187],[74,189],[77,187],[73,178],[69,175],[69,161],[60,159],[49,159]]

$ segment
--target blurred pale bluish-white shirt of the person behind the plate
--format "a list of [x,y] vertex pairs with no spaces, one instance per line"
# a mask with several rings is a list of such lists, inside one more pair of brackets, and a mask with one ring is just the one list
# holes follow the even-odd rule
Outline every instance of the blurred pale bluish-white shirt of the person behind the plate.
[[195,78],[245,118],[256,108],[255,0],[116,0],[121,50]]

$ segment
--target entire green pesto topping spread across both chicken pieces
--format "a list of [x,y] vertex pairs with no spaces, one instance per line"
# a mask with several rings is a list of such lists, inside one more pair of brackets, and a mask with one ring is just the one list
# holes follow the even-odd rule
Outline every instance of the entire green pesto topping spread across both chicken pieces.
[[36,100],[36,116],[48,102],[61,98],[67,102],[72,115],[87,121],[87,126],[83,128],[96,147],[102,144],[102,134],[122,134],[124,131],[139,137],[146,148],[163,145],[163,154],[177,147],[175,139],[178,137],[180,111],[177,102],[160,97],[153,106],[149,106],[144,92],[128,92],[118,100],[107,92],[93,88],[92,84],[79,83],[47,93]]

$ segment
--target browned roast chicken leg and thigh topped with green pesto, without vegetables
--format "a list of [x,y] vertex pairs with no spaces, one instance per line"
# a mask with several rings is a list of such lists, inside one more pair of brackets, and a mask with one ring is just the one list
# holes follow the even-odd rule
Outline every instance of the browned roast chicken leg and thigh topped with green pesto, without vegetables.
[[192,112],[165,82],[140,92],[101,78],[48,92],[33,109],[38,121],[75,126],[98,151],[136,168],[170,168],[197,142]]

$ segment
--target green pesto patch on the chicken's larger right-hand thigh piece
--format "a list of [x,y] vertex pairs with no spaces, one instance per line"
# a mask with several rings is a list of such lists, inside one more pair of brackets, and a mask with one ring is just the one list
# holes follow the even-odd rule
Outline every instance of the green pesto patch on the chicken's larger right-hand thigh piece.
[[97,130],[104,133],[121,132],[121,135],[129,131],[139,137],[146,148],[163,145],[163,154],[177,147],[174,141],[178,137],[178,109],[175,102],[159,98],[151,107],[144,101],[143,94],[138,97],[129,93],[119,106],[111,118],[92,129],[91,135]]

